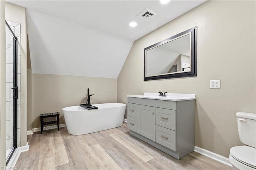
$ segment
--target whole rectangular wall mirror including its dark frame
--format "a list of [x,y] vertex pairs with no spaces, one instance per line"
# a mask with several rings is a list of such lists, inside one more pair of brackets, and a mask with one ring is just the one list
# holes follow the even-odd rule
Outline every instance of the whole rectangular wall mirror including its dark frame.
[[144,81],[196,76],[197,27],[144,49]]

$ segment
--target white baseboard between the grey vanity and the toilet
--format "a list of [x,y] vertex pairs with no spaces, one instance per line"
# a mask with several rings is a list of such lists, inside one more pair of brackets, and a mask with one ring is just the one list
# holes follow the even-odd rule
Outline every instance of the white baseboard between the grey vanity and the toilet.
[[224,156],[221,156],[219,154],[216,154],[214,152],[211,152],[209,150],[206,150],[206,149],[203,149],[203,148],[200,148],[198,146],[195,146],[195,152],[198,152],[204,156],[207,156],[209,158],[212,158],[214,160],[217,160],[218,162],[221,162],[223,164],[226,164],[228,166],[231,166],[232,167],[232,164],[230,163],[230,161],[228,160],[228,158],[224,157]]

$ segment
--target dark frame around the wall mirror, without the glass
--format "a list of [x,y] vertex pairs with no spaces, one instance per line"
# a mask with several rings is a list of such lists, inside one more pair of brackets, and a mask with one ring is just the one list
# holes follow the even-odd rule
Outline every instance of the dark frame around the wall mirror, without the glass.
[[[157,47],[159,45],[168,43],[176,39],[177,37],[180,37],[187,33],[191,34],[191,71],[146,77],[146,51],[148,49]],[[144,48],[144,81],[158,80],[158,79],[172,79],[172,78],[180,78],[180,77],[195,77],[195,76],[197,76],[197,26],[195,26],[194,28],[190,28],[189,30],[186,30],[184,32],[181,32],[175,36],[167,38],[161,42],[150,45],[149,47]]]

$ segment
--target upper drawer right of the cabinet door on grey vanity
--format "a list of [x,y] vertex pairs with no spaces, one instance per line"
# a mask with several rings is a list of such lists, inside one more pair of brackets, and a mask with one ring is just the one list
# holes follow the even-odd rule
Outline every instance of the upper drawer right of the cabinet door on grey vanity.
[[156,125],[176,130],[176,111],[156,107]]

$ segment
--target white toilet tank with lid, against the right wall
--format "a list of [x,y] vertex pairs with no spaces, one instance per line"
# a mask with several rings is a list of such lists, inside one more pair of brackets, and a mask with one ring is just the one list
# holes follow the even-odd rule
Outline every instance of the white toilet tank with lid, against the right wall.
[[240,141],[256,148],[256,114],[237,112],[236,116]]

